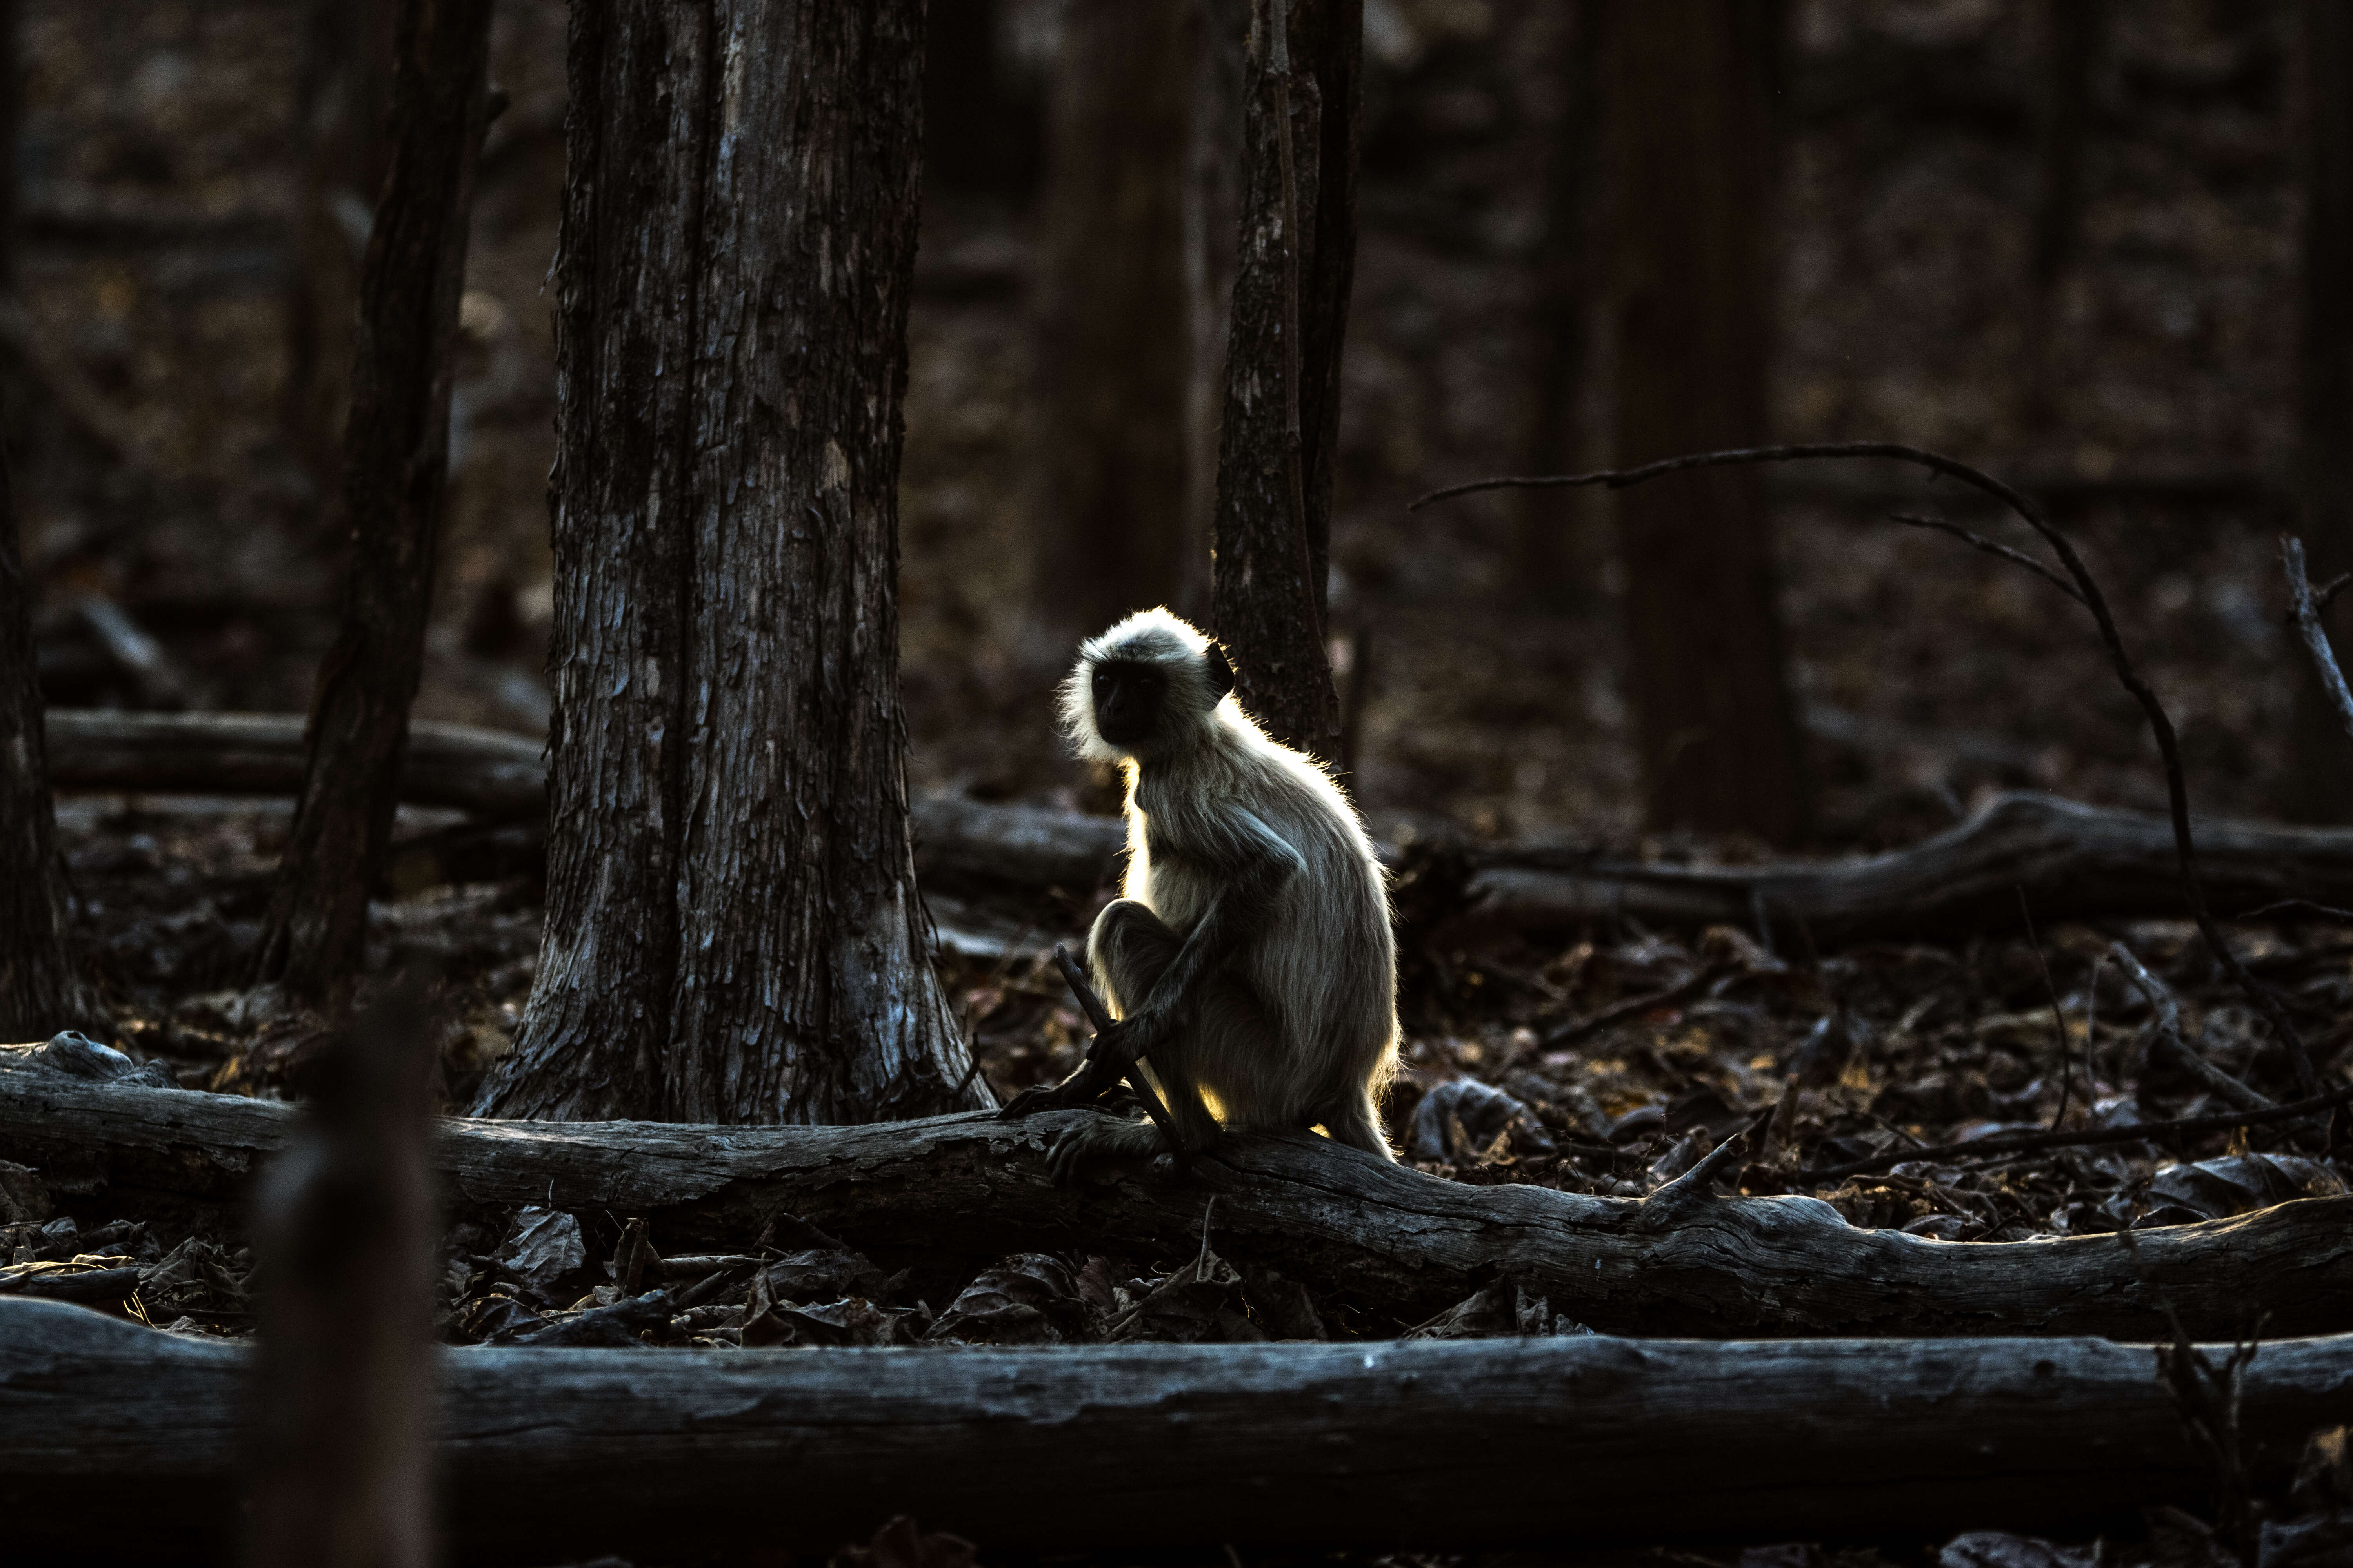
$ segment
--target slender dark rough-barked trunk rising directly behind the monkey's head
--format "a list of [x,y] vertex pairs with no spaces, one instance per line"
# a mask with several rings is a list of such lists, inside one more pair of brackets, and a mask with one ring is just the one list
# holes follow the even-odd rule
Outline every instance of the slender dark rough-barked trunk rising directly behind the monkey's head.
[[[1287,73],[1275,71],[1271,16],[1280,12],[1289,14]],[[1362,45],[1362,0],[1259,0],[1252,12],[1242,235],[1217,456],[1209,618],[1242,708],[1278,741],[1318,757],[1332,757],[1339,738],[1325,599],[1339,364],[1355,280]],[[1285,103],[1289,136],[1278,134]]]

